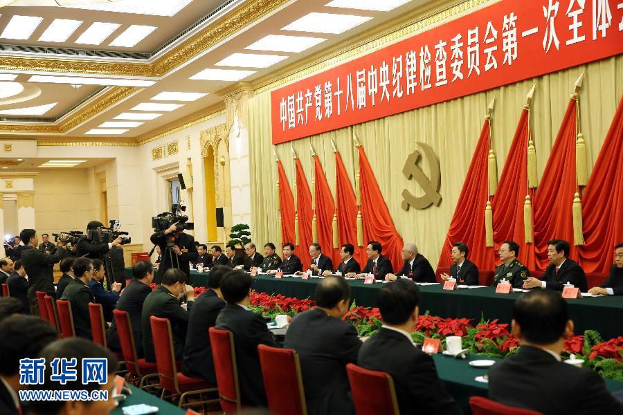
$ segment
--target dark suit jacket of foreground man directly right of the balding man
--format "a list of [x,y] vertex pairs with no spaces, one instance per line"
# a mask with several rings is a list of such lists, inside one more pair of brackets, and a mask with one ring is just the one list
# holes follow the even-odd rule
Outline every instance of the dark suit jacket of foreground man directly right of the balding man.
[[392,376],[401,414],[461,414],[437,376],[433,358],[402,333],[381,327],[363,342],[357,364]]

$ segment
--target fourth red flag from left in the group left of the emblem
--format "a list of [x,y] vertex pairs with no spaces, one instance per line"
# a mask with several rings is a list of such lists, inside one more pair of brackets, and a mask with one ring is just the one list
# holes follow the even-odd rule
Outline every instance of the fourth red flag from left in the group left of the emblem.
[[365,255],[365,247],[357,246],[357,197],[352,190],[352,184],[339,151],[335,151],[335,181],[340,246],[344,243],[352,243],[355,247],[353,256],[363,268],[365,261],[368,261],[368,256]]

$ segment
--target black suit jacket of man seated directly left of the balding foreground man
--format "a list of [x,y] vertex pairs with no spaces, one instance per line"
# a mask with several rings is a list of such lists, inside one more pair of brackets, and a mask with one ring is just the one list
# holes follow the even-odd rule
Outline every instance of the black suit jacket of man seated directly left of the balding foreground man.
[[253,311],[246,311],[237,304],[227,304],[219,313],[215,327],[233,333],[242,403],[266,407],[258,345],[279,347],[266,322]]

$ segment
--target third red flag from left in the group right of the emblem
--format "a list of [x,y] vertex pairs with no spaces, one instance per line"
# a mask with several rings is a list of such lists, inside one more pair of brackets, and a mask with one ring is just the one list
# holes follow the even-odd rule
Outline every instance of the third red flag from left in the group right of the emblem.
[[550,264],[550,239],[568,241],[571,245],[570,257],[577,259],[571,210],[573,194],[578,191],[575,176],[576,107],[577,101],[571,99],[533,202],[534,254],[539,270],[544,270]]

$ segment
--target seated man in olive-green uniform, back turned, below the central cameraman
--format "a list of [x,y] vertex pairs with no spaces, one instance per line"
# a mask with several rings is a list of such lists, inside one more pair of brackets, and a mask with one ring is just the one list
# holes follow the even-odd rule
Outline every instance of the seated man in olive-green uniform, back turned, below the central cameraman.
[[[182,308],[178,300],[181,293],[186,295],[186,310]],[[188,313],[192,310],[193,304],[195,304],[195,290],[186,284],[186,274],[177,268],[166,270],[162,276],[162,284],[156,287],[150,295],[147,295],[141,312],[143,351],[145,351],[147,362],[156,362],[150,317],[154,315],[155,317],[169,319],[175,358],[181,360],[186,342],[186,330],[188,329]]]

